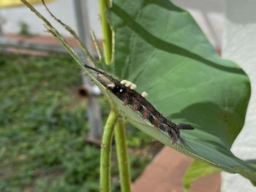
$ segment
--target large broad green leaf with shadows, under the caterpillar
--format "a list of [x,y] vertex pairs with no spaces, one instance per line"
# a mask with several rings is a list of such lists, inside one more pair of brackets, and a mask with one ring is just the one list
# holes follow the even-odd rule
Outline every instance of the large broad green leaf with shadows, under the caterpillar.
[[[230,146],[244,125],[249,79],[232,61],[219,58],[188,12],[167,0],[114,0],[108,11],[115,31],[113,65],[107,70],[147,91],[148,100],[176,123],[193,153],[177,149],[256,183],[256,169]],[[117,101],[121,115],[170,147],[170,139]]]

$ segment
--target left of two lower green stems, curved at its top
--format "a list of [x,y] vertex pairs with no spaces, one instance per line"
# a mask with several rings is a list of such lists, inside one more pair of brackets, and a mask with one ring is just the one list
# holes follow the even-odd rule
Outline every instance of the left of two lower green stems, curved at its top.
[[105,124],[102,136],[102,148],[100,150],[99,188],[102,192],[110,192],[110,154],[113,128],[116,124],[118,114],[111,110]]

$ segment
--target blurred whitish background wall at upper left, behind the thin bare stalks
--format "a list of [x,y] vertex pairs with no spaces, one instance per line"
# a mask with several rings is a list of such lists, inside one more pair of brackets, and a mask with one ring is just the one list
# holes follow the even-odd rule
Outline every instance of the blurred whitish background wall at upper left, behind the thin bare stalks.
[[[97,0],[86,0],[89,6],[89,22],[91,28],[95,31],[96,35],[100,36],[100,25],[99,25],[99,12],[98,12],[98,1]],[[36,9],[45,15],[51,22],[53,18],[50,18],[45,8],[42,5],[36,5]],[[60,18],[64,23],[67,23],[72,28],[77,27],[75,18],[75,7],[73,0],[56,0],[53,3],[48,4],[49,9]],[[16,34],[20,30],[20,22],[29,24],[29,30],[33,34],[45,35],[45,29],[42,26],[42,22],[34,16],[34,13],[29,11],[26,7],[15,7],[8,9],[0,9],[0,17],[5,20],[3,26],[4,33]],[[67,31],[59,27],[61,34],[69,35]]]

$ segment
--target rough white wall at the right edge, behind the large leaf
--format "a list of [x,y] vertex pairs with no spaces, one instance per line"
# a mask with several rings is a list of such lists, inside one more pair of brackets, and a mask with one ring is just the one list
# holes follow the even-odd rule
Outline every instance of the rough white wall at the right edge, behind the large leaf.
[[[256,1],[225,0],[223,57],[235,61],[248,74],[252,86],[244,128],[233,143],[232,152],[244,160],[256,159]],[[239,174],[222,173],[222,191],[256,191]]]

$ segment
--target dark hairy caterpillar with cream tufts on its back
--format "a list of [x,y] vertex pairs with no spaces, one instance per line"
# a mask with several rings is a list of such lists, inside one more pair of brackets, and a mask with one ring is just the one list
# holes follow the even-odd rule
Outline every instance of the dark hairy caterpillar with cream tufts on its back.
[[170,138],[173,140],[172,144],[176,144],[176,142],[181,142],[181,145],[187,147],[191,150],[191,148],[184,142],[184,139],[180,136],[180,130],[192,130],[194,129],[189,124],[185,123],[173,123],[173,121],[165,118],[160,112],[156,110],[156,108],[145,99],[146,92],[143,92],[141,95],[134,89],[136,86],[129,82],[129,85],[125,85],[127,81],[122,80],[119,81],[112,75],[108,74],[99,69],[95,69],[94,67],[84,65],[86,68],[89,68],[97,73],[97,80],[108,88],[118,99],[123,101],[124,105],[131,106],[133,111],[140,112],[141,118],[143,120],[148,120],[154,127],[159,128],[162,131],[165,131]]

